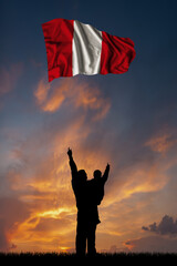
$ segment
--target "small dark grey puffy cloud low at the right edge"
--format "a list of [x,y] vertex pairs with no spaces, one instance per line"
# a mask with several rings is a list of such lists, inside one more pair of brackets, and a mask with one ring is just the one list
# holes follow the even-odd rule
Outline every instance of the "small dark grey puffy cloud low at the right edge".
[[177,234],[177,219],[174,221],[173,217],[165,215],[159,224],[153,223],[149,226],[143,226],[143,231],[154,232],[160,235],[176,235]]

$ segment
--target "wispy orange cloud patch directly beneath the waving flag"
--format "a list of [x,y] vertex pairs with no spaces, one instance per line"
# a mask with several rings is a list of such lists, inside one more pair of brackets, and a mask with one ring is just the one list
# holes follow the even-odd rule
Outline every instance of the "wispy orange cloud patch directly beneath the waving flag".
[[93,120],[104,117],[110,108],[110,100],[104,98],[101,90],[88,83],[80,83],[76,79],[65,79],[51,88],[49,83],[41,80],[34,91],[37,103],[44,112],[55,112],[66,102],[67,106],[94,111]]

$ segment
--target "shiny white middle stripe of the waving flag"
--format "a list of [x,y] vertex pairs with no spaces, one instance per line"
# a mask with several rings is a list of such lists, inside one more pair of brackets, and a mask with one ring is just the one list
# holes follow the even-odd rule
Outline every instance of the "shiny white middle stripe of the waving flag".
[[76,74],[97,74],[101,70],[102,31],[74,20],[72,70]]

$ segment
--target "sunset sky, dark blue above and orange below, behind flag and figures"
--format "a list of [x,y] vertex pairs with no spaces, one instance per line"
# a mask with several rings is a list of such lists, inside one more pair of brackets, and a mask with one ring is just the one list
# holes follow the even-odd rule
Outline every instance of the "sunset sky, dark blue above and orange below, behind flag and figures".
[[[177,1],[0,1],[0,250],[73,252],[67,147],[111,164],[98,252],[177,252]],[[135,42],[124,74],[48,82],[41,24],[79,20]]]

